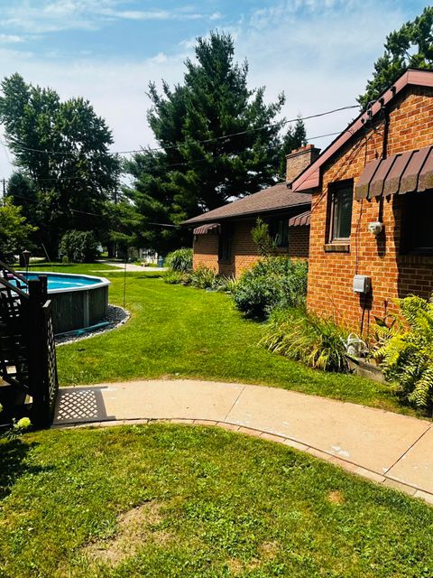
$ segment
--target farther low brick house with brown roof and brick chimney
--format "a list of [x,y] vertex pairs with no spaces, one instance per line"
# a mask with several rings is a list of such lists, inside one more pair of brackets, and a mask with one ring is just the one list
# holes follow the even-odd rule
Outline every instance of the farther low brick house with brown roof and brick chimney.
[[281,255],[309,256],[310,196],[288,190],[287,184],[318,157],[312,144],[287,155],[286,182],[235,200],[185,221],[194,227],[193,266],[207,266],[220,275],[239,276],[260,258],[251,232],[258,217],[269,224]]

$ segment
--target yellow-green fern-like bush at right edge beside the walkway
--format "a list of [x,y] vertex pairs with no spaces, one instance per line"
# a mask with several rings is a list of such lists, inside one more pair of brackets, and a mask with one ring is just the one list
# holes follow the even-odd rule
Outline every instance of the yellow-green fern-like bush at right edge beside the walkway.
[[388,381],[400,384],[415,406],[433,406],[433,302],[410,295],[397,300],[391,324],[376,326],[373,352]]

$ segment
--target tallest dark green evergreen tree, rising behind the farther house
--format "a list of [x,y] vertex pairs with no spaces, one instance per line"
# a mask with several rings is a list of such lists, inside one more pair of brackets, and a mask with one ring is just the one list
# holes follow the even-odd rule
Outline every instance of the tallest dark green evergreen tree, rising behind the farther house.
[[[127,192],[143,215],[143,241],[157,249],[188,242],[178,225],[229,200],[273,184],[280,163],[284,96],[265,104],[264,88],[248,89],[248,65],[234,61],[230,35],[198,38],[196,61],[185,62],[183,84],[162,93],[150,84],[148,121],[161,150],[144,150],[126,163]],[[263,128],[265,126],[265,128]],[[234,136],[228,136],[233,135]]]

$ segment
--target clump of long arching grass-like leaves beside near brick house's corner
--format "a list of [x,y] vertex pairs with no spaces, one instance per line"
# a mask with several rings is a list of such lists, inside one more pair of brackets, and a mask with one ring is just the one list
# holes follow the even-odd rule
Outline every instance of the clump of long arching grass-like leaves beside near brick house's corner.
[[347,336],[348,331],[330,319],[299,309],[285,309],[272,312],[261,344],[310,368],[346,373]]

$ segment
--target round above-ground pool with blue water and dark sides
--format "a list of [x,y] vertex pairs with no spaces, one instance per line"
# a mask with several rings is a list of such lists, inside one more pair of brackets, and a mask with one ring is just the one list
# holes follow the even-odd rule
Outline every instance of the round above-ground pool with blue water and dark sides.
[[110,282],[105,277],[44,271],[20,273],[27,279],[47,276],[54,333],[85,329],[106,317]]

